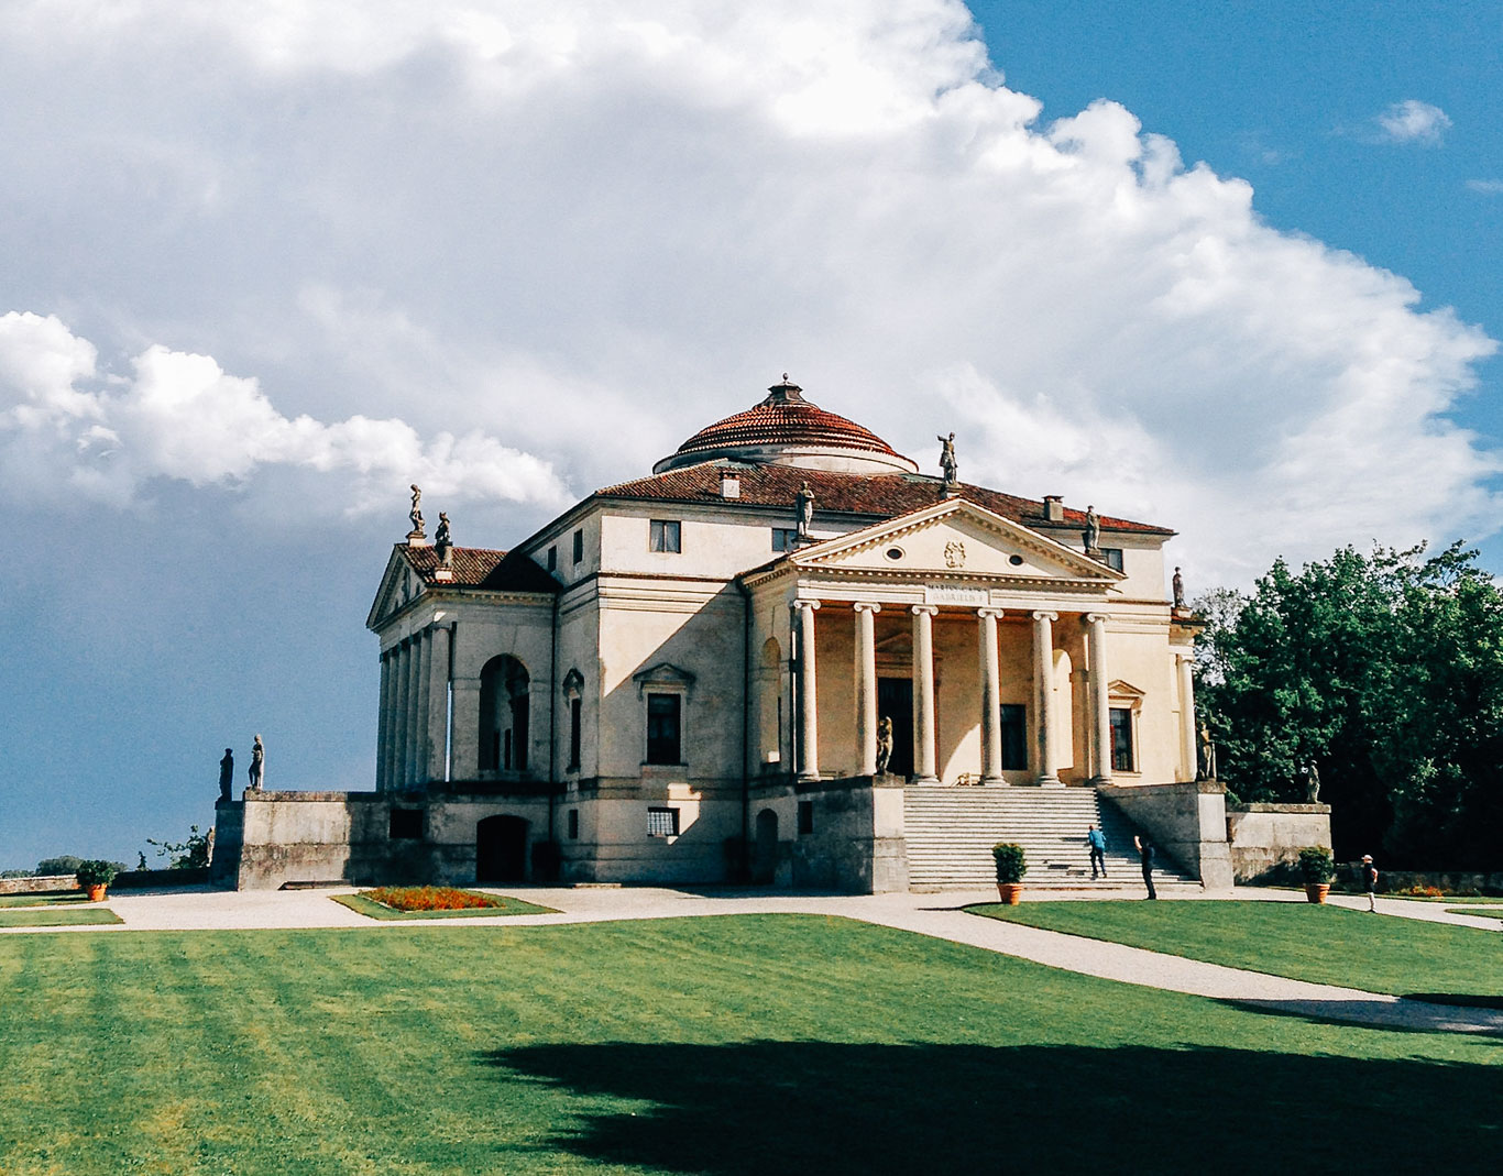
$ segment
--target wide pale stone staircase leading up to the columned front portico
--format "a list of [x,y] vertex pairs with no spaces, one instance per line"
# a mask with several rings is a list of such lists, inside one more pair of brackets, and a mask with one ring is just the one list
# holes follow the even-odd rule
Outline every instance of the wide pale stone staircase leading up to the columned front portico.
[[[1085,831],[1106,834],[1106,879],[1091,879]],[[935,787],[903,789],[908,834],[908,885],[915,891],[996,885],[992,846],[1016,841],[1028,858],[1024,886],[1031,889],[1142,889],[1132,840],[1136,829],[1096,789]],[[1201,889],[1159,853],[1159,889]]]

